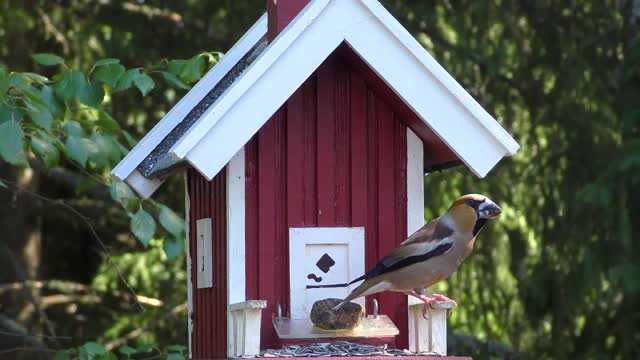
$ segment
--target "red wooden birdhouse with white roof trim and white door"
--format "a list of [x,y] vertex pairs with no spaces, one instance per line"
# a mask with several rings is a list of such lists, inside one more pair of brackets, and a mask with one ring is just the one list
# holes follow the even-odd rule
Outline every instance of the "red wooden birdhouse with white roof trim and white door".
[[[185,174],[194,358],[279,346],[274,318],[344,298],[320,285],[364,274],[424,224],[425,173],[484,177],[519,147],[378,1],[267,9],[113,171],[143,197]],[[373,300],[391,347],[446,339],[405,295],[359,300],[367,313]]]

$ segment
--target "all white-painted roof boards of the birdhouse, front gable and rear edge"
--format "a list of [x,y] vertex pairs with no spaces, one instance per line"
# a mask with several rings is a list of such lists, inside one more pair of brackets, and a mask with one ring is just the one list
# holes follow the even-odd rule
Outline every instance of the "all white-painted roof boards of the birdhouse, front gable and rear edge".
[[[266,17],[114,169],[143,196],[162,183],[136,167],[266,31]],[[213,177],[343,42],[456,153],[484,177],[519,145],[375,0],[312,0],[173,145],[169,155]]]

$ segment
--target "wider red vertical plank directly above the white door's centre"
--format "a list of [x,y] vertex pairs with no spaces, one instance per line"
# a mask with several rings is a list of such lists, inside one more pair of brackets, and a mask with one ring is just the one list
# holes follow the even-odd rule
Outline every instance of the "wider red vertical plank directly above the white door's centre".
[[318,98],[318,225],[335,224],[335,61],[329,57],[317,72]]

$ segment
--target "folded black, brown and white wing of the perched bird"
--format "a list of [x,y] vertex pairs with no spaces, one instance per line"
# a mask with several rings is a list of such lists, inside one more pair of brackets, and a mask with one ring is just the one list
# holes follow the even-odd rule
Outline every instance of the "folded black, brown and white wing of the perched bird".
[[426,261],[451,250],[454,230],[439,220],[440,218],[434,219],[416,231],[399,247],[380,260],[373,269],[352,283],[360,280],[369,280],[376,276]]

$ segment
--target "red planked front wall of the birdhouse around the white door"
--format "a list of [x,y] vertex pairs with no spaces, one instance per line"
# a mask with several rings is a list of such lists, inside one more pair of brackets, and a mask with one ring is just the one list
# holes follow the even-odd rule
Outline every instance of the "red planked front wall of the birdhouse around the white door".
[[[268,302],[263,348],[276,304],[289,309],[289,227],[364,226],[367,268],[406,238],[407,126],[387,100],[336,52],[246,145],[246,292]],[[407,348],[406,296],[371,298]]]

